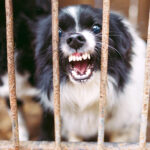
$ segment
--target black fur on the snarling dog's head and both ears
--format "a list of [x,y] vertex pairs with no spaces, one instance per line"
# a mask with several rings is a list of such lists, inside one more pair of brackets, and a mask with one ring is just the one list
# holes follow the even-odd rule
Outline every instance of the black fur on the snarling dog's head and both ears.
[[[102,11],[93,9],[90,6],[80,6],[80,27],[81,29],[89,29],[93,24],[102,26]],[[59,13],[59,26],[63,30],[60,40],[68,32],[74,32],[75,21],[72,16],[65,14],[63,11]],[[51,16],[40,20],[36,35],[36,64],[38,85],[42,91],[50,95],[52,91],[52,41],[51,41]],[[97,41],[101,41],[102,34],[96,36]],[[63,41],[65,42],[65,40]],[[117,89],[123,90],[126,82],[128,82],[128,73],[131,69],[130,59],[132,57],[132,37],[127,28],[122,23],[122,18],[116,14],[110,14],[110,35],[109,35],[109,60],[108,73],[117,81]],[[93,54],[95,71],[100,70],[101,44],[97,43],[96,53]],[[60,81],[68,80],[68,58],[66,58],[61,49],[59,49],[60,58]]]

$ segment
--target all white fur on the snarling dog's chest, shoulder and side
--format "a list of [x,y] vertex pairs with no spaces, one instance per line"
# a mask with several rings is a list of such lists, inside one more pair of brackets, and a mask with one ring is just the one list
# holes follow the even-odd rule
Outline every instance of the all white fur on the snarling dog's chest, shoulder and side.
[[[131,25],[123,21],[133,37],[132,69],[129,80],[123,91],[114,88],[115,79],[108,75],[105,131],[126,135],[123,141],[137,142],[139,134],[140,113],[143,98],[144,63],[146,45],[136,34]],[[86,83],[74,84],[64,82],[60,85],[62,135],[68,134],[90,137],[98,130],[98,101],[100,97],[100,72],[95,72],[93,79]],[[42,93],[42,103],[53,109],[53,93],[51,100]],[[109,114],[111,117],[109,117]],[[126,129],[124,129],[126,127]],[[115,140],[114,140],[115,141]]]

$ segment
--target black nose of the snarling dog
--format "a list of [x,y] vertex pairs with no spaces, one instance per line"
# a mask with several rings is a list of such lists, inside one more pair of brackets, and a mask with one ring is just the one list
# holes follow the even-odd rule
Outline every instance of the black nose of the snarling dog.
[[79,33],[72,34],[67,39],[67,44],[73,49],[79,49],[85,44],[86,40],[83,35]]

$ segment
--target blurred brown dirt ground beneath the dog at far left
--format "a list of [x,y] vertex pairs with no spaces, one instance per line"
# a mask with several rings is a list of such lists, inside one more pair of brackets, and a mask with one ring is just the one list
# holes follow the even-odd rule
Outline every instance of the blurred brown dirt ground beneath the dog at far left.
[[[36,140],[42,119],[42,109],[37,102],[27,100],[21,110],[30,133],[30,140]],[[11,137],[11,120],[5,101],[0,99],[0,140],[10,140]]]

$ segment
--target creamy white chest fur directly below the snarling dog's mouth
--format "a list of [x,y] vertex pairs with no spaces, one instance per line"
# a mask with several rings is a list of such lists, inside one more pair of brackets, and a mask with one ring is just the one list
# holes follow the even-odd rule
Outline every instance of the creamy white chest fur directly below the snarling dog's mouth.
[[[115,96],[111,77],[108,77],[109,105]],[[61,85],[61,116],[63,121],[63,136],[73,132],[81,137],[94,136],[98,129],[100,72],[93,75],[92,82]]]

